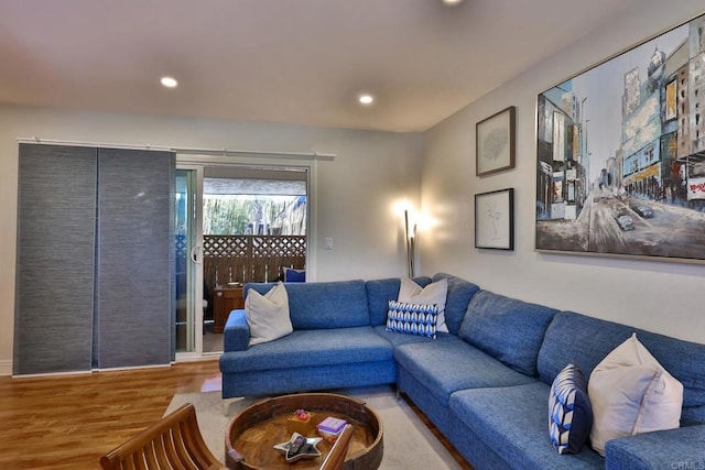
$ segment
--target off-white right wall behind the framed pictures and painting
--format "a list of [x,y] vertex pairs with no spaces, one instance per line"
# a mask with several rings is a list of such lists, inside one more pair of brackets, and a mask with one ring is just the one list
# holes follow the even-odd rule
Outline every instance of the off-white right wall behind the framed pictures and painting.
[[[702,1],[634,2],[633,9],[608,26],[427,131],[422,209],[435,226],[420,236],[424,273],[445,271],[500,294],[705,342],[705,264],[558,255],[533,250],[536,95],[690,20],[704,8]],[[520,40],[517,46],[521,47]],[[475,124],[508,106],[517,107],[517,166],[478,178]],[[514,251],[476,250],[474,195],[506,187],[516,188]]]

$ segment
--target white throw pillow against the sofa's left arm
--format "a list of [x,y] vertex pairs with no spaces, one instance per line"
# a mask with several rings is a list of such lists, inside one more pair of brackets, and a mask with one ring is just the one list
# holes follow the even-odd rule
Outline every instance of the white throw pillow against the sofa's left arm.
[[289,295],[281,282],[264,295],[251,288],[245,299],[245,314],[250,327],[250,346],[272,341],[291,334]]

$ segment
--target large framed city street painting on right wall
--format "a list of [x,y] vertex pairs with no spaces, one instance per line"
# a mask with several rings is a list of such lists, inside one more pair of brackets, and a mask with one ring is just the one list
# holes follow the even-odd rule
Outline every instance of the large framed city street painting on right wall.
[[705,15],[538,97],[535,248],[705,260]]

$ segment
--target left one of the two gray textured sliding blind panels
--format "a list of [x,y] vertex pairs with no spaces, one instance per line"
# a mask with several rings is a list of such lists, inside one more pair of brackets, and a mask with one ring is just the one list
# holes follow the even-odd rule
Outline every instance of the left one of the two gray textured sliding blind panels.
[[96,155],[20,145],[15,374],[90,370]]

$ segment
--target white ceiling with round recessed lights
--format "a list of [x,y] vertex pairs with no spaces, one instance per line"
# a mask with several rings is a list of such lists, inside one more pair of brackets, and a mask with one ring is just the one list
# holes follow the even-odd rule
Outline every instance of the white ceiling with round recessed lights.
[[638,2],[0,0],[0,102],[423,131]]

